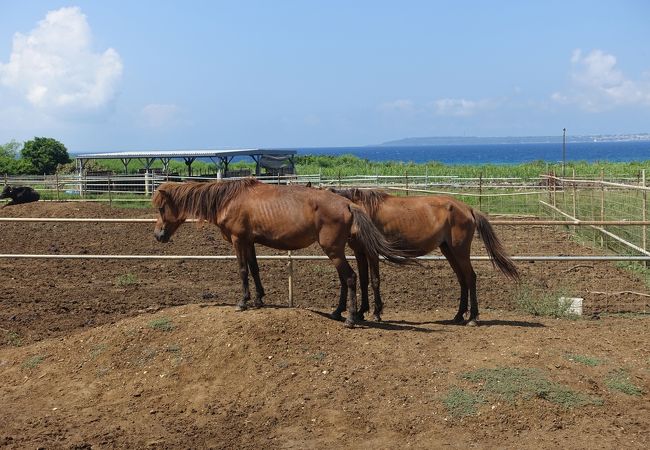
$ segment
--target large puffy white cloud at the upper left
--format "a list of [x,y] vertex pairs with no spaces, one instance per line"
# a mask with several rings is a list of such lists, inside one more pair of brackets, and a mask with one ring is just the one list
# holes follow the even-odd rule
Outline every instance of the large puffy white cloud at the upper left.
[[28,34],[15,33],[0,83],[50,114],[98,112],[114,100],[122,60],[92,50],[92,31],[78,7],[50,11]]

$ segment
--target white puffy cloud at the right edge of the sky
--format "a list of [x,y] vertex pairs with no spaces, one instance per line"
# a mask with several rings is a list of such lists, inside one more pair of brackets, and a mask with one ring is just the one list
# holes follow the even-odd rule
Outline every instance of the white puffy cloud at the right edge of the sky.
[[614,55],[602,50],[587,55],[575,50],[571,56],[571,85],[565,93],[554,92],[551,99],[592,112],[617,106],[650,106],[650,82],[626,78],[616,62]]

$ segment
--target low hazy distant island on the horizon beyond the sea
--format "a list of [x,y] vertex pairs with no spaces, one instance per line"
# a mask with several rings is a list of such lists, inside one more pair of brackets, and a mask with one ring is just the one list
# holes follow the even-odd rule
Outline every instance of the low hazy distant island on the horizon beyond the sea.
[[[599,134],[585,136],[567,136],[567,142],[629,142],[650,141],[650,133],[635,134]],[[418,147],[432,145],[481,145],[481,144],[557,144],[562,143],[562,136],[439,136],[413,137],[388,141],[379,147]]]

